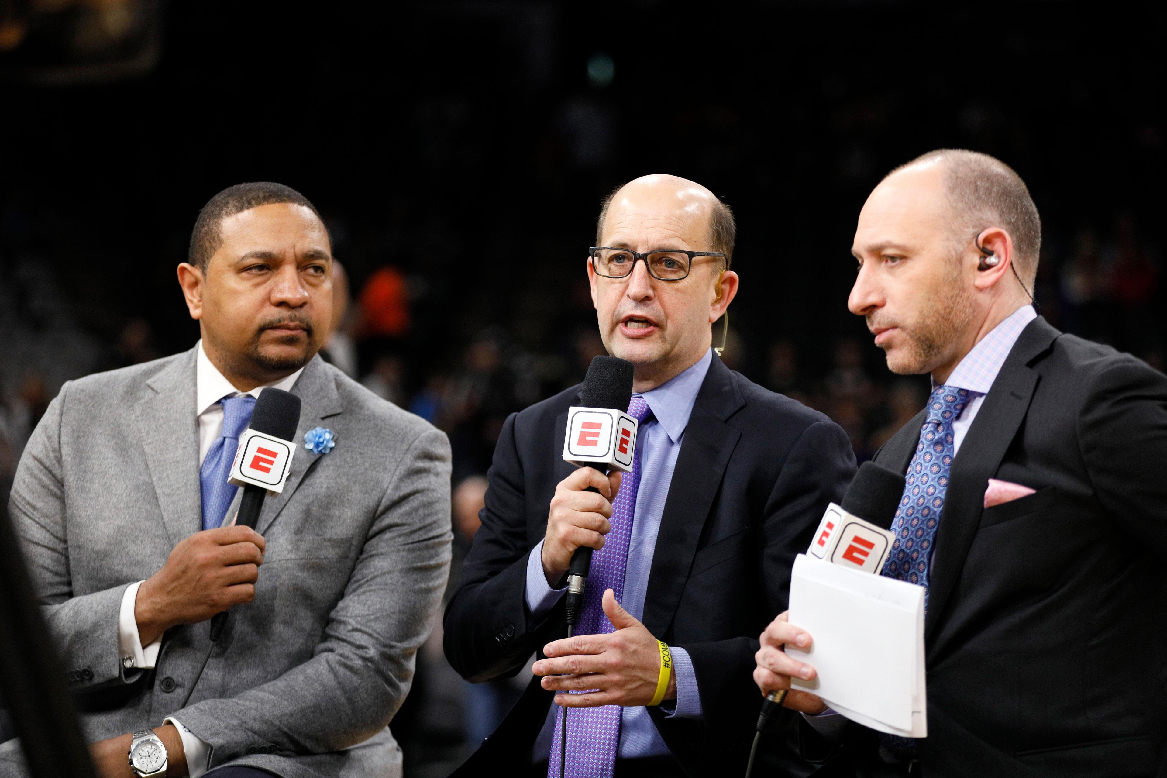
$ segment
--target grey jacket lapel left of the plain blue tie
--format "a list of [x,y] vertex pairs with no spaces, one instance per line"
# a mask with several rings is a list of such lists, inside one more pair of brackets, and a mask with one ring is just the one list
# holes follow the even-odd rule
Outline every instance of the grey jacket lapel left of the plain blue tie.
[[135,414],[138,439],[146,450],[146,467],[172,547],[203,526],[196,402],[191,349],[146,381]]

